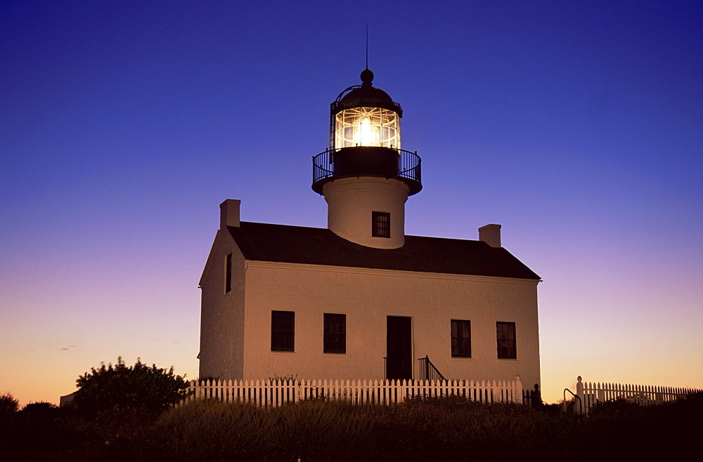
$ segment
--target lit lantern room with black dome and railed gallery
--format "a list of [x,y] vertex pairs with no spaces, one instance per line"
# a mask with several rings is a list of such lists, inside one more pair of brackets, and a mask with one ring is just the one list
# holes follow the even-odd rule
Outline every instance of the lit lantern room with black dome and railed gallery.
[[403,109],[372,84],[373,72],[361,72],[361,85],[346,88],[330,106],[330,148],[313,157],[312,189],[348,177],[401,180],[408,195],[422,189],[420,157],[401,150]]

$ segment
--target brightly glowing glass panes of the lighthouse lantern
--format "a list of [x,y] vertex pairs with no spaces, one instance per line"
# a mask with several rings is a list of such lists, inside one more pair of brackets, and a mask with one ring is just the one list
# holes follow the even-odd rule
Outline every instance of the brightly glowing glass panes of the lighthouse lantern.
[[382,107],[354,107],[335,116],[335,148],[380,146],[400,149],[396,112]]

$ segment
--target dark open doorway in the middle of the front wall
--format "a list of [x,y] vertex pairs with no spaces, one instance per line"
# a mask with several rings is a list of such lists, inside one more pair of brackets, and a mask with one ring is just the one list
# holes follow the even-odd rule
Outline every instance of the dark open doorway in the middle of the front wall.
[[386,325],[386,378],[413,378],[411,318],[389,316]]

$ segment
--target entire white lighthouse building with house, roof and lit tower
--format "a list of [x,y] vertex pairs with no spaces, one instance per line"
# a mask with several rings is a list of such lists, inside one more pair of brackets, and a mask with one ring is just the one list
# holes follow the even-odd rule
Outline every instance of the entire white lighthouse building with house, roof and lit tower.
[[405,234],[422,190],[417,152],[401,149],[398,103],[361,72],[331,105],[330,147],[312,189],[328,227],[220,226],[200,279],[200,376],[250,380],[514,379],[539,384],[540,278],[501,246]]

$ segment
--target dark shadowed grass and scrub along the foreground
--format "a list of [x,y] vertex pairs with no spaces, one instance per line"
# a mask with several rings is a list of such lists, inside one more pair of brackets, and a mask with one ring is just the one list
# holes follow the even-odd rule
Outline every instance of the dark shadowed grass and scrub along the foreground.
[[692,453],[703,430],[703,394],[647,408],[608,402],[588,417],[553,408],[201,400],[160,415],[122,409],[88,418],[45,406],[0,418],[0,447],[7,460],[52,461],[655,460]]

